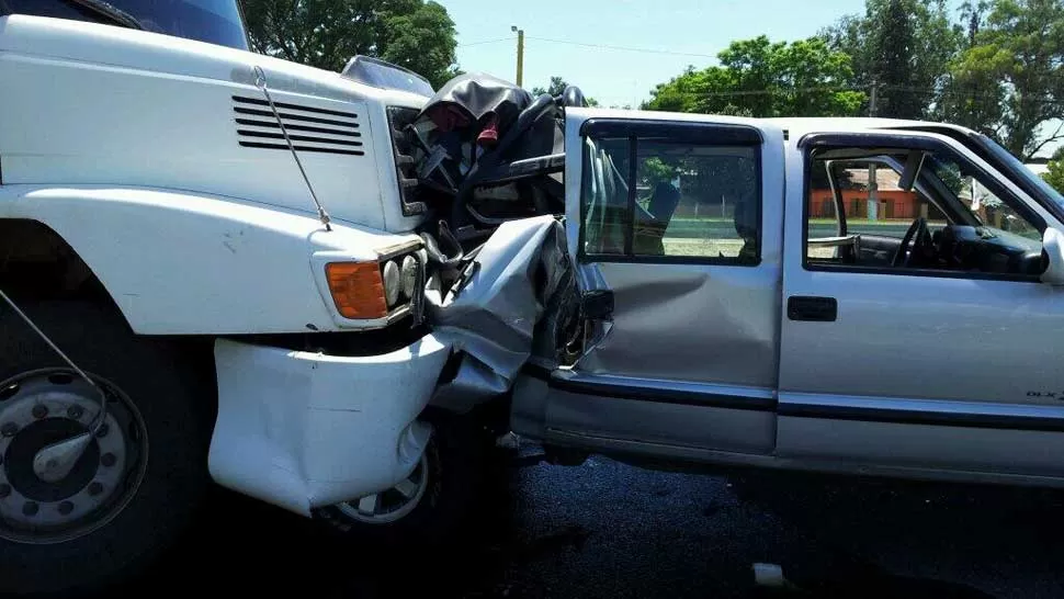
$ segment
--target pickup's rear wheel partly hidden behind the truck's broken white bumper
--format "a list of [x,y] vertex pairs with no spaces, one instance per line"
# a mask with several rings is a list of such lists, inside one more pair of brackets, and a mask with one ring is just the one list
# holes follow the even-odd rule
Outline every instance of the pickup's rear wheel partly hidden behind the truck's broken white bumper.
[[469,418],[431,419],[432,438],[406,479],[383,493],[317,510],[352,540],[428,550],[455,540],[474,511],[484,477],[485,434]]

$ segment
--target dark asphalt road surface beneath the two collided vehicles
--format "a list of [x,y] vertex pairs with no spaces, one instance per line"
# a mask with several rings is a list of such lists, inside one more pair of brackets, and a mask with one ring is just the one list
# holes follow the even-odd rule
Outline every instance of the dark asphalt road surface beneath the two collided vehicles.
[[[499,474],[477,530],[425,556],[341,543],[219,490],[129,596],[1064,597],[1064,494],[528,462]],[[755,562],[806,591],[758,590]]]

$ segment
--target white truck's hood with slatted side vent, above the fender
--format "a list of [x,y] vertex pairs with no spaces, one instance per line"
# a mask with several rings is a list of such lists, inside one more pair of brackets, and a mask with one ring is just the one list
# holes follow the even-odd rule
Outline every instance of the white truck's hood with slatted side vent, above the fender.
[[0,18],[4,184],[186,190],[314,212],[265,74],[330,215],[403,233],[387,108],[426,98],[234,48],[111,25]]

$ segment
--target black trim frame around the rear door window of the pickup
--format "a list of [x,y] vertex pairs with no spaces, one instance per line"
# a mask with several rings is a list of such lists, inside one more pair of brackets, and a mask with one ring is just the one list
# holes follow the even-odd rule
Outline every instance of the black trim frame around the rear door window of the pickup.
[[[712,137],[708,137],[712,135]],[[757,236],[755,237],[755,257],[743,259],[739,257],[701,257],[701,256],[637,256],[633,245],[635,237],[635,178],[637,177],[636,160],[638,155],[638,139],[667,138],[677,143],[691,143],[699,146],[716,147],[754,147],[755,196],[757,205]],[[587,223],[587,202],[585,191],[588,189],[591,174],[590,155],[587,149],[588,138],[626,138],[629,143],[629,223],[624,237],[624,253],[588,253],[586,250],[585,224]],[[580,228],[577,240],[577,260],[580,263],[614,262],[636,264],[700,264],[757,268],[761,264],[761,246],[763,235],[762,215],[765,211],[765,172],[762,169],[762,152],[765,138],[756,127],[740,124],[705,123],[698,121],[658,121],[652,118],[589,118],[580,127]]]

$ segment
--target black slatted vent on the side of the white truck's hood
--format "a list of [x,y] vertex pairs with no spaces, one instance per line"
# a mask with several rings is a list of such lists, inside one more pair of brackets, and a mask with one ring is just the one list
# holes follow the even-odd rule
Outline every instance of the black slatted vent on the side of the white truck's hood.
[[[246,148],[287,150],[270,103],[258,98],[233,97],[237,136]],[[364,156],[359,115],[353,112],[274,102],[292,145],[298,151]]]

